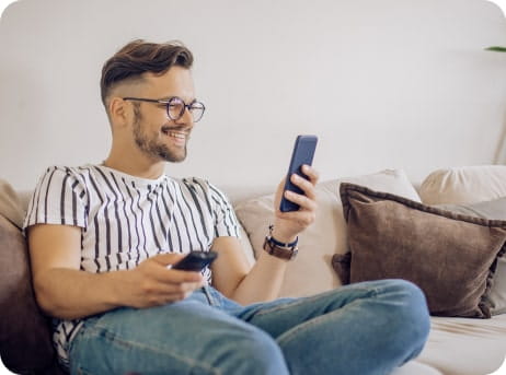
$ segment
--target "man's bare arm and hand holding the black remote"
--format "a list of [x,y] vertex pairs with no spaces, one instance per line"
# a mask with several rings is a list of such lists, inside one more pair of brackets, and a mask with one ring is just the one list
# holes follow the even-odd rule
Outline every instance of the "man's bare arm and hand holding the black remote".
[[199,288],[198,272],[168,270],[179,255],[159,255],[128,271],[80,270],[81,230],[39,224],[28,228],[37,302],[48,315],[74,319],[118,306],[149,307],[184,298]]

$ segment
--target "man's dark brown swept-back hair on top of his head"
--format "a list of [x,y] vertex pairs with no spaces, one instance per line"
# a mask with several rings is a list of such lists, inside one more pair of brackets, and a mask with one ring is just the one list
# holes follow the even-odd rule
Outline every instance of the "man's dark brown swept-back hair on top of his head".
[[102,68],[100,91],[102,103],[119,82],[137,80],[145,72],[163,74],[171,67],[192,68],[193,55],[181,42],[148,43],[137,39],[128,43],[110,58]]

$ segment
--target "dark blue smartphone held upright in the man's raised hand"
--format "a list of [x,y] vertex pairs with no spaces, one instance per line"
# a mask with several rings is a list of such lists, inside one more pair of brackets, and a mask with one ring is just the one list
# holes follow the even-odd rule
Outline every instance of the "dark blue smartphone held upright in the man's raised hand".
[[[290,176],[294,173],[297,173],[299,176],[308,179],[301,167],[303,164],[312,165],[313,157],[314,157],[314,150],[317,150],[318,137],[317,136],[298,136],[294,145],[294,151],[291,152],[290,165],[288,167],[288,173],[286,176],[285,183],[285,190],[290,190],[297,194],[303,194],[303,191],[291,184]],[[285,198],[281,197],[281,203],[279,204],[279,210],[281,212],[289,212],[289,211],[297,211],[299,209],[299,204],[294,203]]]

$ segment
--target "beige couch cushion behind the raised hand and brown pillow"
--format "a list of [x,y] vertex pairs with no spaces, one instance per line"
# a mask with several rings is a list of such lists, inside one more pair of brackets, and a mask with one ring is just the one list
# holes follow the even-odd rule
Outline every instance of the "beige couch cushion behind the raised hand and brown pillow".
[[[382,171],[320,183],[317,186],[315,222],[300,235],[299,255],[288,265],[280,296],[311,295],[341,285],[331,267],[331,259],[334,254],[343,254],[347,249],[346,224],[338,195],[338,186],[343,180],[419,200],[403,171]],[[256,254],[262,251],[268,225],[274,218],[273,201],[274,194],[271,194],[238,202],[235,206],[235,213]]]

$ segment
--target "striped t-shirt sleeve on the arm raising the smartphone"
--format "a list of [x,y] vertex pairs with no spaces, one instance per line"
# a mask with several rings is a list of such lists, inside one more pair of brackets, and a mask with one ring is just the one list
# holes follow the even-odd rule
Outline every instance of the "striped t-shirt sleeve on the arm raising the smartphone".
[[227,196],[214,185],[209,184],[210,203],[215,218],[215,236],[240,237],[239,222],[232,204]]

